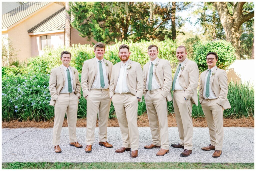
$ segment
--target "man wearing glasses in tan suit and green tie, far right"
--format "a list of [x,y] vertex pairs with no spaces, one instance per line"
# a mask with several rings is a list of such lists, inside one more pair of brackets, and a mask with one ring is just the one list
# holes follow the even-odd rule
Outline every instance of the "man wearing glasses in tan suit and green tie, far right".
[[226,71],[216,66],[218,55],[209,52],[206,55],[208,69],[201,73],[199,101],[205,114],[210,133],[210,145],[202,150],[215,150],[212,157],[221,155],[223,143],[223,111],[231,108],[227,99],[228,77]]

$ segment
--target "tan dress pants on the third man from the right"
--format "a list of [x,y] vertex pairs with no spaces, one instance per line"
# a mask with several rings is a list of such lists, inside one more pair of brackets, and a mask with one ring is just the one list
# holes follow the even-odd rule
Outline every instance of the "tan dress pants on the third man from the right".
[[147,91],[144,99],[147,108],[152,144],[169,150],[167,101],[161,89]]

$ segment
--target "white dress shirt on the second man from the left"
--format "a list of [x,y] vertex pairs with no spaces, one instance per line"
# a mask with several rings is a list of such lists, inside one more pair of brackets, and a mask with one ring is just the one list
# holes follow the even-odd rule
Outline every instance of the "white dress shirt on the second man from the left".
[[105,86],[101,87],[101,85],[100,85],[100,62],[99,62],[100,60],[96,57],[95,57],[95,59],[97,62],[98,72],[97,72],[94,82],[92,83],[91,89],[108,89],[109,81],[108,81],[108,77],[106,74],[106,68],[105,68],[106,66],[105,66],[104,60],[103,60],[103,58],[101,59],[101,65],[102,65],[102,70],[103,70],[103,78],[104,78]]

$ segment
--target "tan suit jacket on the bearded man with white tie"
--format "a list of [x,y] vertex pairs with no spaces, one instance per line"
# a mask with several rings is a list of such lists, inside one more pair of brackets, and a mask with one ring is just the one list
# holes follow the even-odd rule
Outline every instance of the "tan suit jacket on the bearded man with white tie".
[[[115,88],[119,77],[121,62],[122,61],[116,63],[113,66],[113,72],[111,74],[111,81],[109,84],[110,97],[112,97],[115,94]],[[131,65],[131,68],[125,70],[127,86],[130,89],[131,94],[135,95],[136,97],[139,97],[139,101],[141,102],[143,95],[143,72],[141,64],[129,59],[128,66],[129,65]]]

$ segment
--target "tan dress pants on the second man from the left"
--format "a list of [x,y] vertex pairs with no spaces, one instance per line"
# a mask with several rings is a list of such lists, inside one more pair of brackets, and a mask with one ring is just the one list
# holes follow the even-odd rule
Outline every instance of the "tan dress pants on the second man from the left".
[[109,121],[109,109],[111,99],[109,89],[91,89],[87,100],[86,115],[86,144],[92,145],[94,142],[94,130],[97,115],[99,113],[99,141],[107,141],[107,127]]

